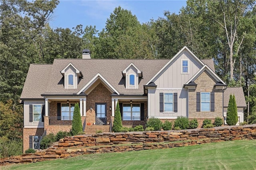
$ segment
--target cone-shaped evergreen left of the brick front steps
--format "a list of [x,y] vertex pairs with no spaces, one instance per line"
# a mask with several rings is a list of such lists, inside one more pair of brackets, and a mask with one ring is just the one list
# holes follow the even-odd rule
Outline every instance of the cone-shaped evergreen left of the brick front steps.
[[74,108],[71,133],[72,135],[83,133],[82,119],[78,103],[75,104]]

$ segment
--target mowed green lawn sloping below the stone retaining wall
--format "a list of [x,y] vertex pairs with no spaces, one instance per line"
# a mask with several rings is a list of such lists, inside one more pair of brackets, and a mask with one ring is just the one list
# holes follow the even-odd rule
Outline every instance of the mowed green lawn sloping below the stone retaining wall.
[[88,154],[30,164],[2,166],[18,170],[81,170],[81,169],[211,169],[256,170],[256,140],[140,150],[122,153]]

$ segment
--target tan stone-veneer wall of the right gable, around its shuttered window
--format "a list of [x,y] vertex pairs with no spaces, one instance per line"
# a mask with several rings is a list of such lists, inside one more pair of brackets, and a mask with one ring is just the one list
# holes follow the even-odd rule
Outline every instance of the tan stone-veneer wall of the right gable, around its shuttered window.
[[[196,89],[188,91],[188,118],[189,119],[215,119],[215,117],[223,118],[222,115],[222,89],[215,89],[216,80],[204,71],[195,81]],[[214,112],[197,112],[196,111],[196,92],[212,92],[214,91]]]

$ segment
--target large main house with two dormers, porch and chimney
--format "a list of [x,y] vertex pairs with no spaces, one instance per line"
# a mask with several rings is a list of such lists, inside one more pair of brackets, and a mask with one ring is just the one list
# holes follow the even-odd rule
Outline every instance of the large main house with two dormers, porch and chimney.
[[23,150],[38,148],[45,134],[69,131],[75,103],[86,133],[111,129],[117,102],[123,125],[178,116],[202,125],[204,119],[223,118],[224,87],[213,60],[200,60],[187,47],[172,59],[90,59],[85,49],[82,59],[31,64],[20,97]]

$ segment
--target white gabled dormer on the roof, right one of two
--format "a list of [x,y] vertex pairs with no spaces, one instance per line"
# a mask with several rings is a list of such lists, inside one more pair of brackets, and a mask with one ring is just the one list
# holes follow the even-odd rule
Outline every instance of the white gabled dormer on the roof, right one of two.
[[140,71],[133,63],[130,63],[128,67],[122,71],[125,78],[126,89],[138,89],[139,78],[142,78],[142,71]]

